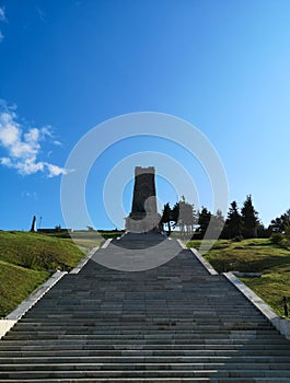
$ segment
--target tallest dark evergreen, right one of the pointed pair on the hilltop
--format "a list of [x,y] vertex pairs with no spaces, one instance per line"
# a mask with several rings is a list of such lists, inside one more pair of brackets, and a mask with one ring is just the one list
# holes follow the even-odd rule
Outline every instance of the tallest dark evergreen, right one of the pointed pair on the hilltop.
[[241,209],[243,236],[246,239],[257,237],[257,228],[259,224],[258,212],[254,209],[252,196],[246,196],[246,200]]

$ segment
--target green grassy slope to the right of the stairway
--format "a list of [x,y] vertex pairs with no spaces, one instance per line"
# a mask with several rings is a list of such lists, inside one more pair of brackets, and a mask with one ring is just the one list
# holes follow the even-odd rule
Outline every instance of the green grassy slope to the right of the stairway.
[[[200,241],[187,243],[188,247],[198,248],[199,245]],[[270,240],[219,240],[205,258],[219,272],[262,272],[260,278],[241,279],[279,315],[283,315],[283,297],[289,297],[290,305],[290,251]]]

